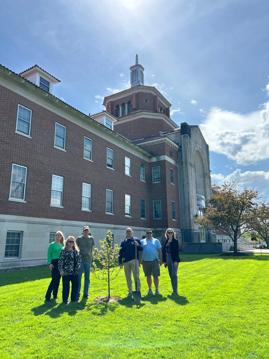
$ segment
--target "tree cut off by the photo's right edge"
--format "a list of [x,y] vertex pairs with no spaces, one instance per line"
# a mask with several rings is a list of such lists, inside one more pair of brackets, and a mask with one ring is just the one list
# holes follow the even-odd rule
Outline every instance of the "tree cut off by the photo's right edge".
[[266,205],[264,202],[259,203],[251,226],[263,238],[267,248],[269,248],[269,204]]

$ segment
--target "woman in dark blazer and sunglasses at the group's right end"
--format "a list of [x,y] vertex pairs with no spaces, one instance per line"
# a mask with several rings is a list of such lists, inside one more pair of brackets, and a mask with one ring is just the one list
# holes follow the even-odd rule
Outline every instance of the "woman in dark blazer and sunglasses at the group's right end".
[[165,232],[166,241],[162,248],[162,261],[165,268],[168,267],[169,276],[173,288],[172,295],[178,294],[178,264],[179,258],[179,247],[176,234],[173,229],[168,228]]

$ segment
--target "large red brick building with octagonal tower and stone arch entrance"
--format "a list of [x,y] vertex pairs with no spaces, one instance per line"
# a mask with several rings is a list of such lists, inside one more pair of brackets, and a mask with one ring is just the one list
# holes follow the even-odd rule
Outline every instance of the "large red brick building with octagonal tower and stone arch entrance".
[[[194,219],[211,197],[209,151],[198,126],[170,119],[171,104],[130,67],[131,88],[87,116],[53,95],[54,76],[34,65],[0,66],[0,267],[46,263],[49,242],[90,225],[95,243],[126,227],[162,240],[214,240]],[[199,202],[200,201],[200,202]]]

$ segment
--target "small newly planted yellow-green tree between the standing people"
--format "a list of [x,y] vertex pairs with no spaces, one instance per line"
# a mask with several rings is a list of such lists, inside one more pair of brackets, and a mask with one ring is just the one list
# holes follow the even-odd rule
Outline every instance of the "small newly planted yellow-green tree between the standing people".
[[108,230],[107,238],[103,241],[100,241],[101,249],[94,249],[93,252],[93,264],[91,267],[91,272],[95,278],[100,280],[105,280],[108,283],[108,298],[107,302],[110,299],[110,281],[115,279],[119,274],[119,250],[118,244],[115,244],[113,248],[113,237],[112,232]]

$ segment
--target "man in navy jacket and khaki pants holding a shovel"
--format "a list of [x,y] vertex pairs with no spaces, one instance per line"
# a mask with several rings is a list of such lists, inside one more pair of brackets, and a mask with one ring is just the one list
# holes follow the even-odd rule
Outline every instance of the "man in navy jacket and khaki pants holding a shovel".
[[[136,252],[135,252],[136,248]],[[128,295],[127,297],[132,297],[133,291],[133,281],[132,281],[132,272],[133,278],[137,278],[137,288],[136,290],[141,290],[141,283],[139,279],[139,251],[143,251],[141,242],[138,238],[133,237],[133,231],[131,228],[126,229],[126,238],[121,243],[121,249],[119,250],[119,266],[122,269],[124,265],[124,274],[126,276],[127,286],[128,286]],[[137,258],[137,263],[136,259]],[[135,276],[136,272],[136,276]]]

